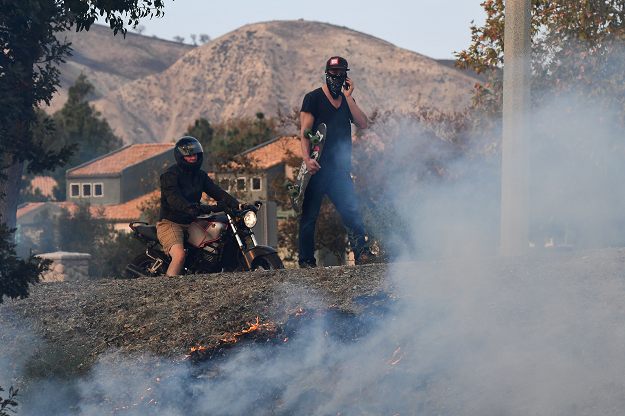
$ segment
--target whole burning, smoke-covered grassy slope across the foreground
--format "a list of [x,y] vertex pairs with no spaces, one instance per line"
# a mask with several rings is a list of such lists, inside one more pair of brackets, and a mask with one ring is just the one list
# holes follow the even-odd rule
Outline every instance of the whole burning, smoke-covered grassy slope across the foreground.
[[[83,414],[622,414],[624,263],[606,249],[46,284],[0,313],[73,374],[98,360]],[[0,338],[31,368],[54,361]]]

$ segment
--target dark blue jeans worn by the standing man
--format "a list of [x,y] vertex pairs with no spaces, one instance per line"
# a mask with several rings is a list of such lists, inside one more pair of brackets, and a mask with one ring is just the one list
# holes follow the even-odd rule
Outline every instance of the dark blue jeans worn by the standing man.
[[325,194],[341,214],[357,260],[366,241],[365,228],[362,225],[362,217],[358,211],[358,202],[354,192],[354,182],[348,171],[324,169],[312,175],[304,194],[302,218],[299,222],[299,260],[301,262],[315,258],[315,224]]

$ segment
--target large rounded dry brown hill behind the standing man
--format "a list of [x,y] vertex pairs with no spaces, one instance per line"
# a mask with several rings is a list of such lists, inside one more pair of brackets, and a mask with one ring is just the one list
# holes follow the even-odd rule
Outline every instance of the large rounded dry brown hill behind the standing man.
[[300,20],[244,26],[95,104],[126,142],[169,141],[198,117],[217,121],[301,105],[324,82],[331,55],[349,61],[365,112],[409,108],[419,99],[445,110],[470,102],[474,78],[373,36]]

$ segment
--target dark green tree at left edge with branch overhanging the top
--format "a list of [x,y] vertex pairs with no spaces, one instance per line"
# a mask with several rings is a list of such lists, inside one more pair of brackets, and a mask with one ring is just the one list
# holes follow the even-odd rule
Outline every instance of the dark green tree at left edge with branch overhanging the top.
[[[36,109],[49,104],[59,85],[58,64],[70,54],[70,45],[59,34],[74,27],[88,30],[104,16],[114,33],[126,33],[125,23],[160,16],[162,0],[86,2],[83,0],[0,0],[0,160],[2,175],[0,215],[15,224],[22,164],[30,172],[54,170],[72,155],[72,148],[49,151],[34,140]],[[40,125],[50,131],[52,124]]]

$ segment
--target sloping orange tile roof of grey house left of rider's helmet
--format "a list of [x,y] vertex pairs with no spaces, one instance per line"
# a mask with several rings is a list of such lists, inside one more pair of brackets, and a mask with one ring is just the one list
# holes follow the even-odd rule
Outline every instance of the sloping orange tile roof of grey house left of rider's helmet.
[[119,174],[125,167],[156,156],[172,147],[173,143],[133,144],[69,170],[67,176]]

